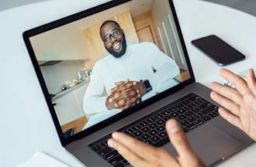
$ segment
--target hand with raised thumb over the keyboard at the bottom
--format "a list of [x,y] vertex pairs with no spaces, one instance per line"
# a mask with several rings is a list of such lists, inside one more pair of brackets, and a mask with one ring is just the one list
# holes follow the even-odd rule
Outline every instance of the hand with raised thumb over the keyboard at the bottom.
[[129,135],[114,132],[108,145],[114,148],[131,165],[135,167],[202,167],[205,166],[199,157],[193,152],[185,137],[182,128],[175,120],[166,123],[166,129],[172,145],[178,152],[178,157],[169,154],[162,148],[155,148],[138,141]]

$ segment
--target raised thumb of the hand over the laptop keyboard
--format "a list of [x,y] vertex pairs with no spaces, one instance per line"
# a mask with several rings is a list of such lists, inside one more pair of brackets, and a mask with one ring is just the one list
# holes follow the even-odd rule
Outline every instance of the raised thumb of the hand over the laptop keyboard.
[[182,127],[178,124],[178,121],[175,121],[174,119],[167,121],[166,130],[172,145],[178,152],[180,161],[182,161],[181,163],[191,163],[190,165],[198,163],[199,158],[189,145],[189,141],[187,140],[184,131],[182,131]]

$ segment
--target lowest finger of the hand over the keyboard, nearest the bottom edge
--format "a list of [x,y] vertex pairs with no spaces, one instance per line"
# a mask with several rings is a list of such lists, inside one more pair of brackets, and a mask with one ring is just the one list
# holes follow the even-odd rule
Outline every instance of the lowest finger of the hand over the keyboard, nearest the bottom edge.
[[126,147],[126,145],[121,144],[119,141],[116,141],[113,138],[109,139],[108,145],[109,147],[116,149],[116,151],[119,152],[119,154],[122,155],[123,158],[125,158],[133,166],[144,167],[149,165],[144,158],[140,158],[139,155],[132,152]]

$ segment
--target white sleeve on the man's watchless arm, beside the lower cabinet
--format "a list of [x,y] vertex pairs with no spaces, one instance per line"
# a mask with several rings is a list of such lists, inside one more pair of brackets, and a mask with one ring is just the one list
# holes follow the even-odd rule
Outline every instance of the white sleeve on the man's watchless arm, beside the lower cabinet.
[[104,84],[99,73],[99,67],[92,70],[92,77],[84,97],[85,114],[97,114],[102,111],[109,111],[106,108],[106,98],[104,96]]

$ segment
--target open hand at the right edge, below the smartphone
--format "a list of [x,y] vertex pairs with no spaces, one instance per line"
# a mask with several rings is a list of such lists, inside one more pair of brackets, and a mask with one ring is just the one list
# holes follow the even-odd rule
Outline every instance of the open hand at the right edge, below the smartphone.
[[213,82],[213,101],[220,104],[220,115],[256,141],[256,80],[253,70],[247,73],[247,81],[230,72],[220,70],[220,75],[235,88]]

